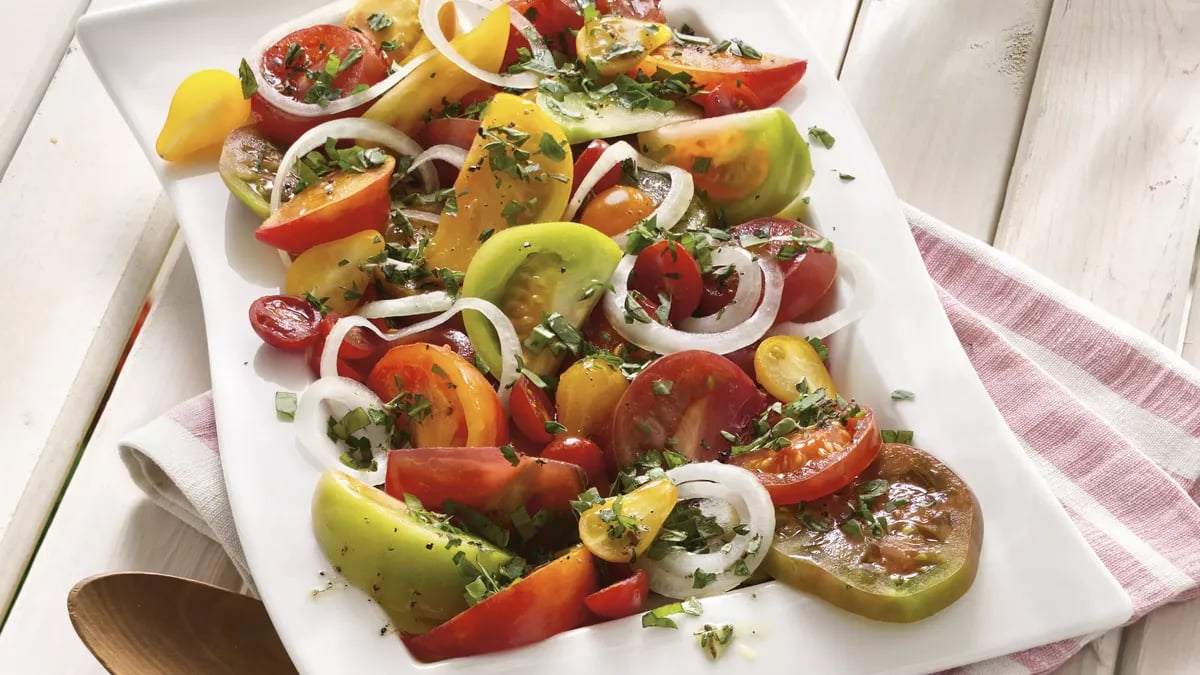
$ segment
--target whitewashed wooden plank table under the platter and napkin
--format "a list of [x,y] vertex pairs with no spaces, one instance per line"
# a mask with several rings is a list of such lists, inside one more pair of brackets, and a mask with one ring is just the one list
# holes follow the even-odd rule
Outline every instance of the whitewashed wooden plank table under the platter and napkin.
[[[792,1],[902,198],[1200,363],[1200,1]],[[86,5],[11,7],[0,90],[0,671],[23,675],[102,671],[65,611],[83,577],[239,583],[115,453],[209,372],[169,207],[71,41]],[[1198,633],[1200,602],[1169,607],[1061,673],[1200,673]]]

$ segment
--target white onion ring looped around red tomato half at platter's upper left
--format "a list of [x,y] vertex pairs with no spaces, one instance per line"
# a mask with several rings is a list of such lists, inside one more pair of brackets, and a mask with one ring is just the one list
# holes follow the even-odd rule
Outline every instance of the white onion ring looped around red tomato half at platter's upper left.
[[[324,7],[318,7],[307,14],[292,19],[289,22],[282,23],[271,30],[266,31],[263,37],[254,43],[254,48],[251,50],[250,56],[246,62],[254,70],[254,76],[257,79],[265,79],[263,77],[263,54],[266,53],[276,42],[283,40],[292,32],[295,32],[302,28],[308,28],[318,24],[341,24],[346,18],[346,14],[354,7],[356,2],[341,1],[334,2],[331,5],[325,5]],[[438,31],[440,35],[440,29]],[[325,106],[319,106],[317,103],[305,103],[304,101],[296,101],[290,96],[284,96],[280,94],[277,89],[268,84],[266,82],[259,82],[258,92],[263,98],[271,106],[283,110],[284,113],[296,115],[300,118],[320,118],[326,115],[336,115],[338,113],[344,113],[358,108],[359,106],[374,101],[379,96],[383,96],[385,91],[395,86],[400,80],[408,77],[414,70],[421,64],[430,60],[433,56],[433,50],[426,52],[413,58],[410,61],[400,67],[396,72],[389,74],[384,79],[372,84],[364,91],[358,94],[350,94],[341,98],[330,101]]]

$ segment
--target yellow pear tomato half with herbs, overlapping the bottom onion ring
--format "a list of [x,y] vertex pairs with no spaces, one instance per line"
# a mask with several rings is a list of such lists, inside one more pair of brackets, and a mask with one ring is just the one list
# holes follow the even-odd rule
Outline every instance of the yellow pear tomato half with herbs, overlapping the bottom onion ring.
[[631,562],[646,552],[679,501],[679,489],[665,478],[628,495],[610,497],[580,515],[580,540],[608,562]]

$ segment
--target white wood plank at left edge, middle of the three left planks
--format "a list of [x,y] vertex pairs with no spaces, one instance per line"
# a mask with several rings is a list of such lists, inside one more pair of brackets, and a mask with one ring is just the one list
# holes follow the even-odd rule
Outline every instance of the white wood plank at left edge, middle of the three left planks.
[[[0,615],[42,533],[175,229],[86,59],[62,62],[0,181]],[[36,395],[30,395],[36,392]]]

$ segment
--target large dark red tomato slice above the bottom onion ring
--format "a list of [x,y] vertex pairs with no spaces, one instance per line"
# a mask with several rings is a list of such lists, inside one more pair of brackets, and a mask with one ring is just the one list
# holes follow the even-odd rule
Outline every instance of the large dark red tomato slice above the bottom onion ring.
[[754,380],[722,356],[702,350],[665,356],[620,398],[613,458],[623,467],[649,450],[673,448],[695,461],[714,460],[730,449],[721,431],[737,434],[766,405]]

